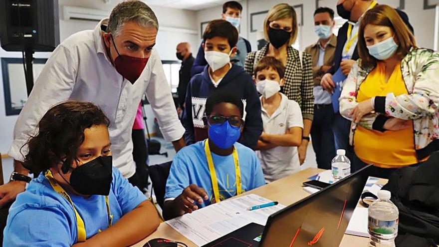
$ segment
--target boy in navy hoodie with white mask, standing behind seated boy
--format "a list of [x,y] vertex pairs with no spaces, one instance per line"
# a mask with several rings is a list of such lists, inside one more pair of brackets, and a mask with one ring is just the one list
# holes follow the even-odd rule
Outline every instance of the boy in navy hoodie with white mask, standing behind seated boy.
[[183,114],[186,145],[208,138],[203,121],[206,99],[214,92],[225,90],[244,103],[244,129],[239,143],[255,147],[262,133],[261,106],[256,87],[249,74],[230,63],[236,53],[238,31],[226,20],[209,22],[203,34],[203,48],[208,65],[201,74],[192,77],[186,93]]

